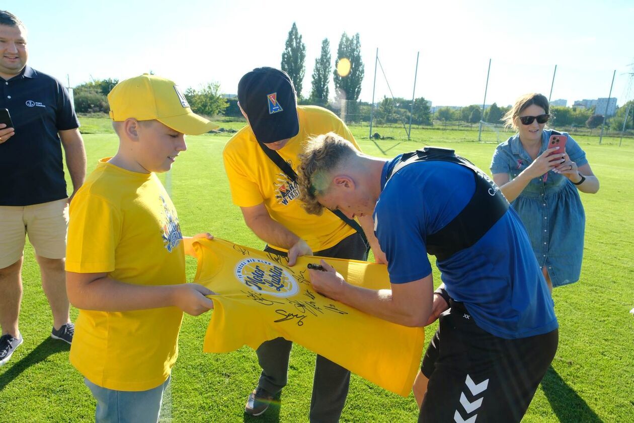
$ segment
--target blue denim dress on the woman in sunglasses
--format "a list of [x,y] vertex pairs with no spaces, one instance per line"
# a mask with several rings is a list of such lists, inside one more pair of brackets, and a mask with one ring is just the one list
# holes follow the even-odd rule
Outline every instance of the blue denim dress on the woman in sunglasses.
[[[541,134],[540,154],[546,150],[552,131]],[[566,152],[577,166],[588,163],[586,153],[567,133]],[[533,162],[519,134],[495,148],[491,174],[507,173],[514,179]],[[553,287],[577,282],[583,258],[586,216],[576,186],[566,176],[548,172],[532,179],[511,203],[526,226],[540,268],[547,267]]]

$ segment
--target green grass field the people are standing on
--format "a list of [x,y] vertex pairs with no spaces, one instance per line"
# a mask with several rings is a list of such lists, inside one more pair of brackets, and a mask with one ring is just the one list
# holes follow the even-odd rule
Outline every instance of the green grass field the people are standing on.
[[[117,140],[105,119],[86,118],[82,123],[91,171],[98,159],[116,152]],[[223,126],[237,129],[242,124]],[[387,157],[425,144],[451,146],[488,169],[495,149],[494,142],[474,142],[477,128],[416,129],[412,136],[417,141],[378,141],[378,146],[361,138],[368,136],[366,127],[352,129],[366,153],[382,155],[382,150],[387,151]],[[495,141],[495,135],[489,138]],[[245,226],[240,210],[231,204],[221,157],[228,140],[228,135],[188,138],[188,151],[171,171],[172,199],[184,235],[209,231],[216,237],[261,248],[264,243]],[[598,145],[594,136],[580,136],[578,141],[600,179],[601,189],[596,195],[581,194],[587,215],[581,281],[553,293],[560,323],[559,350],[524,421],[634,422],[634,316],[628,313],[634,308],[634,143],[624,140],[619,147],[618,138],[604,138],[604,144]],[[195,273],[191,257],[187,273],[191,280]],[[434,278],[439,283],[437,271]],[[11,422],[94,420],[93,398],[82,376],[68,362],[68,346],[48,337],[51,313],[28,243],[23,279],[20,330],[24,343],[0,368],[0,416]],[[72,317],[76,316],[77,310],[72,309]],[[221,355],[202,353],[209,318],[209,313],[184,317],[180,355],[165,396],[162,421],[307,421],[314,354],[295,346],[280,405],[261,417],[246,417],[244,402],[259,377],[256,355],[246,347]],[[427,341],[436,327],[426,329]],[[353,375],[342,421],[415,422],[417,415],[412,395],[401,398]]]

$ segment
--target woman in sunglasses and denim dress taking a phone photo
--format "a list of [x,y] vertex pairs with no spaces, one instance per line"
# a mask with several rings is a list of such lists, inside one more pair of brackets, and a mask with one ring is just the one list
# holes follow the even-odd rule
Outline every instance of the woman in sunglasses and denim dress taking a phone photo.
[[[491,174],[518,212],[548,289],[577,282],[581,273],[585,212],[578,191],[595,193],[598,179],[586,153],[566,133],[566,148],[547,148],[552,129],[548,99],[521,96],[504,115],[517,134],[493,153]],[[559,134],[555,132],[555,134]]]

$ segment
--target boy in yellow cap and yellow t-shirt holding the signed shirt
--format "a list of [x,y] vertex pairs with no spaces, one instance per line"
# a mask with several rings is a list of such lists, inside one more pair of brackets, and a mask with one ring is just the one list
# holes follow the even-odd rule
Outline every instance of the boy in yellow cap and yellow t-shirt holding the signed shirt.
[[174,82],[144,74],[108,94],[119,151],[101,159],[70,204],[68,299],[79,308],[70,362],[97,400],[96,420],[156,422],[178,355],[183,311],[214,294],[185,283],[176,209],[157,172],[186,150],[184,134],[216,125],[195,115]]

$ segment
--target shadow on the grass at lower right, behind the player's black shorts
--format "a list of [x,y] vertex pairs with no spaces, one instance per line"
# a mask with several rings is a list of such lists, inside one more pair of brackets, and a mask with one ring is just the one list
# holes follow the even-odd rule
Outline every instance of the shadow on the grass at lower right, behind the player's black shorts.
[[552,366],[541,381],[541,389],[560,422],[603,422]]

